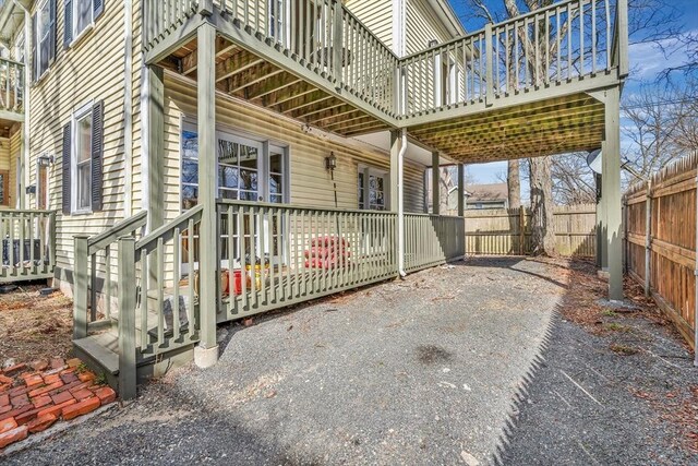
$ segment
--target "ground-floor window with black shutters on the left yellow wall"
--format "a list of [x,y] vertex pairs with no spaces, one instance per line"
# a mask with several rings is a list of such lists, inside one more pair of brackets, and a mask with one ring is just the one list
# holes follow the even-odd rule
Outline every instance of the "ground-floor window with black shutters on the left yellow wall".
[[84,106],[63,130],[63,212],[103,208],[104,101]]

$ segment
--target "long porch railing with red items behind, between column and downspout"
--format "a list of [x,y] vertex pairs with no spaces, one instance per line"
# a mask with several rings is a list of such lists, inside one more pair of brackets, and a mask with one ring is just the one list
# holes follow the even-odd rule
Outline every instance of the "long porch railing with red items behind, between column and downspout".
[[218,202],[219,320],[397,276],[397,215]]

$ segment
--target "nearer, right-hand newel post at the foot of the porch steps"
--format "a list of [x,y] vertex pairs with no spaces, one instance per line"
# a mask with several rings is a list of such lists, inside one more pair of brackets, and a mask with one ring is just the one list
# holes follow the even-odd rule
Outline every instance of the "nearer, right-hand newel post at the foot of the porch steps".
[[[135,238],[119,238],[119,394],[121,399],[136,396],[135,363]],[[143,326],[142,332],[146,328]]]

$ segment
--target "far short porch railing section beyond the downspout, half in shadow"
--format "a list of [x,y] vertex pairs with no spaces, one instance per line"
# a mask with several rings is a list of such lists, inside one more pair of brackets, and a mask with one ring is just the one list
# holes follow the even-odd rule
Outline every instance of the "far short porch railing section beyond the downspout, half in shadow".
[[466,253],[464,217],[405,214],[405,270],[416,272]]

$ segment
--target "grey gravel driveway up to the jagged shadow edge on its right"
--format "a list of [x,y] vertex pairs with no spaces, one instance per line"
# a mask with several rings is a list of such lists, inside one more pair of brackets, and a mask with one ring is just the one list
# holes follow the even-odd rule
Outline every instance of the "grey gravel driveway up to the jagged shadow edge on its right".
[[490,265],[229,326],[214,368],[180,369],[4,461],[484,464],[563,291],[543,264]]

